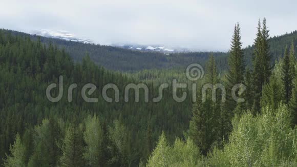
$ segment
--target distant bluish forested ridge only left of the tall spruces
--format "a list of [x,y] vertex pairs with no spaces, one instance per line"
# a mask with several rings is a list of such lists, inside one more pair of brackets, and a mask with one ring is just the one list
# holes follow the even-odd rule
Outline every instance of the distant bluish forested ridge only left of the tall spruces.
[[[97,65],[116,71],[136,72],[144,69],[171,69],[186,67],[194,61],[204,65],[209,54],[208,52],[193,52],[166,55],[160,52],[132,51],[112,46],[83,44],[75,41],[46,38],[17,31],[4,31],[18,36],[28,36],[32,40],[39,38],[41,43],[47,45],[52,43],[60,49],[64,48],[74,61],[81,61],[84,55],[88,53]],[[218,59],[220,69],[226,69],[226,54],[216,52],[214,55]]]

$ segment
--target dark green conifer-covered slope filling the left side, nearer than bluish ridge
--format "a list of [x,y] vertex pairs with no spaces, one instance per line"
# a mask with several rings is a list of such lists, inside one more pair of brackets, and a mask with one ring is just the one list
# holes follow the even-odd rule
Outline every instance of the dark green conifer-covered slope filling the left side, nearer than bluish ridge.
[[[63,98],[53,103],[47,99],[46,89],[50,83],[57,83],[60,75],[65,91]],[[6,159],[6,154],[16,154],[9,147],[15,139],[22,140],[17,147],[24,151],[20,153],[22,157],[16,157],[18,165],[12,166],[68,163],[63,158],[74,158],[75,165],[87,164],[83,155],[87,156],[86,135],[92,126],[100,131],[88,140],[101,150],[96,157],[97,165],[135,166],[140,158],[148,158],[161,131],[174,140],[188,129],[192,96],[179,103],[172,99],[172,88],[168,88],[164,90],[166,100],[153,103],[158,89],[152,89],[149,83],[148,103],[144,102],[141,91],[139,102],[134,102],[133,91],[130,102],[124,102],[123,88],[128,83],[137,83],[135,79],[98,67],[88,56],[79,63],[73,62],[65,50],[53,45],[46,47],[38,40],[31,41],[28,36],[14,36],[4,30],[0,31],[0,80],[0,159]],[[73,91],[73,101],[68,102],[67,90],[72,83],[78,86]],[[92,97],[98,97],[98,102],[87,103],[82,99],[80,90],[86,83],[97,86]],[[102,98],[101,90],[107,83],[119,87],[119,102],[109,103]],[[52,92],[53,96],[57,91]],[[108,93],[114,97],[112,90]],[[97,117],[90,117],[94,115]],[[81,150],[75,151],[75,157],[67,157],[70,155],[66,152],[73,152],[68,149],[74,146]],[[11,161],[5,162],[16,163]]]

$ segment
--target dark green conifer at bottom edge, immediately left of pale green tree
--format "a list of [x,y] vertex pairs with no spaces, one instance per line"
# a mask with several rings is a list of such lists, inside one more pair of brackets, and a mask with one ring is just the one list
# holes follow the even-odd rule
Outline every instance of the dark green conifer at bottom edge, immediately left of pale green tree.
[[61,146],[61,166],[84,166],[82,133],[77,127],[70,126],[66,129],[65,139]]

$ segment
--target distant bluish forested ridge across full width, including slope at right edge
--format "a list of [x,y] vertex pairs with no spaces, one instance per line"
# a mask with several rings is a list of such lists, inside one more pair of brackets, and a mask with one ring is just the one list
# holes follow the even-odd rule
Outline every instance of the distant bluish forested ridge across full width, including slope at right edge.
[[[67,53],[73,58],[74,61],[81,61],[86,53],[89,54],[90,58],[100,66],[110,70],[117,71],[128,71],[136,72],[140,70],[148,69],[175,69],[185,68],[192,62],[198,62],[201,65],[205,65],[208,54],[207,52],[193,52],[193,53],[174,53],[174,54],[163,54],[163,53],[152,53],[152,52],[141,52],[132,51],[128,49],[121,49],[111,46],[93,45],[93,44],[82,44],[75,41],[66,41],[61,39],[53,39],[46,37],[38,37],[36,35],[29,35],[22,32],[10,31],[12,34],[18,36],[30,36],[32,40],[40,41],[44,44],[52,43],[58,48],[64,48]],[[273,36],[269,40],[271,63],[282,56],[285,46],[289,46],[291,41],[297,43],[297,31],[287,33],[284,35]],[[245,61],[248,66],[252,65],[254,45],[243,48],[245,54]],[[218,70],[227,70],[227,56],[228,53],[214,52],[218,64]]]

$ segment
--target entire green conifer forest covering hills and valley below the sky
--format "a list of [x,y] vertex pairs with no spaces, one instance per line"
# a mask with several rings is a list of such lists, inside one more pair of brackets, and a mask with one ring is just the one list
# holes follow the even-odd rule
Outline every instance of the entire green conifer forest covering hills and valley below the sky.
[[[270,37],[264,18],[252,46],[242,47],[239,23],[230,41],[227,53],[165,55],[1,29],[0,165],[297,166],[297,32]],[[204,68],[200,80],[185,75],[193,63]],[[173,79],[188,87],[176,90]],[[57,102],[46,95],[52,83],[63,87]],[[87,83],[96,102],[82,96]],[[108,83],[118,101],[112,89],[112,101],[102,95]],[[148,99],[140,89],[138,102],[135,91],[125,101],[129,83],[147,86]],[[203,94],[206,84],[223,85],[225,100],[220,90]],[[231,95],[237,84],[241,100]]]

